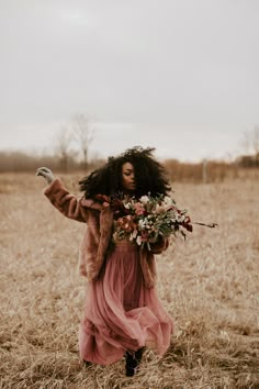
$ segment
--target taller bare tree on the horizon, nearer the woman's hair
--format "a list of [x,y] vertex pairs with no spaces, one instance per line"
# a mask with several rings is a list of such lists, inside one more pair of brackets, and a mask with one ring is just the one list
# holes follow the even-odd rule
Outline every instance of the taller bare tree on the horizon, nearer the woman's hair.
[[72,116],[72,136],[78,142],[82,153],[83,169],[88,168],[89,147],[93,140],[93,126],[86,115],[76,114]]

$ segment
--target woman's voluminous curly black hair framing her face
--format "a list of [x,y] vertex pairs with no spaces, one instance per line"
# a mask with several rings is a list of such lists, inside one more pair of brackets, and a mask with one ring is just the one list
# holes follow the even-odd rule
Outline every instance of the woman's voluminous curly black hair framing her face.
[[168,194],[171,189],[169,180],[164,166],[154,158],[154,147],[136,146],[126,149],[117,157],[109,157],[103,167],[79,181],[80,190],[85,191],[87,199],[91,199],[95,194],[113,196],[123,192],[122,166],[125,163],[131,163],[135,170],[136,190],[134,194],[137,198],[147,193],[151,196]]

